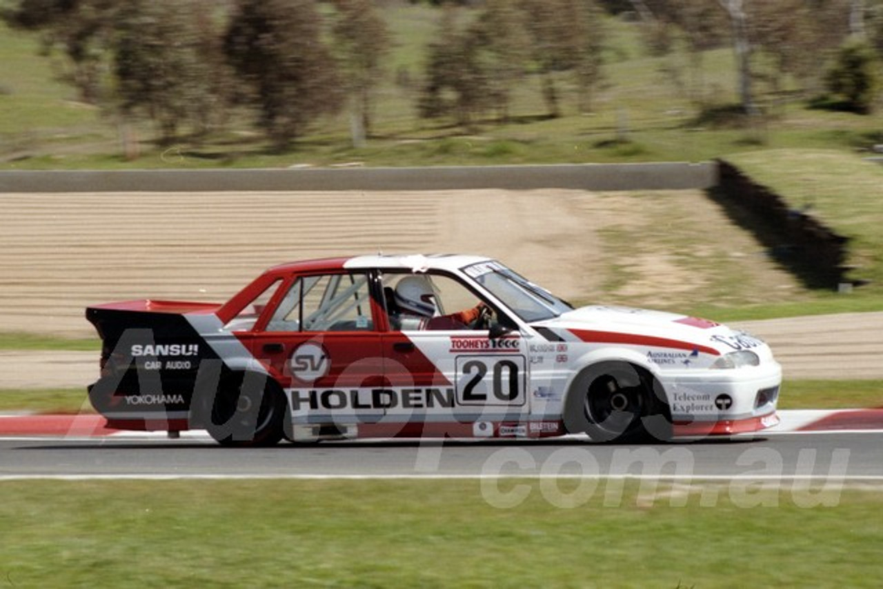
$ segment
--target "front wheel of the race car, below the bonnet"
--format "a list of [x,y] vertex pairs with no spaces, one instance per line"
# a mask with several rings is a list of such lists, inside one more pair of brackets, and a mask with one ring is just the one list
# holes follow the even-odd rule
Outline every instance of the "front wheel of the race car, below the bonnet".
[[671,437],[668,404],[645,369],[601,362],[577,375],[564,406],[570,434],[592,442],[664,442]]

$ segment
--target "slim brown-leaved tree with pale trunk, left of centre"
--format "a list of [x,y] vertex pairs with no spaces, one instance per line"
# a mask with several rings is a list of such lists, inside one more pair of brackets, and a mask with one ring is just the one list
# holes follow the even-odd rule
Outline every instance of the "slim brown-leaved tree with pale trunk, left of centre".
[[352,142],[359,147],[371,133],[371,94],[389,51],[389,32],[371,0],[334,0],[334,5],[333,32],[350,96]]

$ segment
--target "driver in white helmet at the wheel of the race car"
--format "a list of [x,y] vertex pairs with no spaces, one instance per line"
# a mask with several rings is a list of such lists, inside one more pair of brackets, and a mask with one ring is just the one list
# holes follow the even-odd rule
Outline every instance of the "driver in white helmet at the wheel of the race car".
[[[489,313],[490,308],[483,302],[457,313],[436,315],[435,292],[432,284],[426,276],[405,276],[398,284],[394,296],[395,306],[398,313],[390,311],[390,319],[401,321],[401,324],[409,327],[415,324],[416,329],[465,329],[477,321],[483,313]],[[413,321],[416,320],[416,321]]]

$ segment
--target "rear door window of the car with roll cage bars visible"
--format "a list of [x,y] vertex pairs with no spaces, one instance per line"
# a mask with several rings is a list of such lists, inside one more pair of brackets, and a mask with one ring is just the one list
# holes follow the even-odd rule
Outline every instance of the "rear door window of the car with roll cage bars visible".
[[268,331],[367,331],[374,328],[364,274],[302,276],[291,284]]

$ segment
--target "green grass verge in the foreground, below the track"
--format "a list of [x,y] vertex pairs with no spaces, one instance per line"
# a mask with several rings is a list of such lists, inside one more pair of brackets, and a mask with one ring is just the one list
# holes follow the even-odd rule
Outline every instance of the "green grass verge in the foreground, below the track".
[[[883,528],[868,517],[883,508],[878,492],[829,490],[804,507],[807,495],[787,485],[697,485],[682,497],[657,484],[653,499],[649,486],[592,480],[3,482],[0,578],[94,589],[675,589],[872,587],[883,577]],[[491,504],[520,492],[529,495],[517,507]]]

